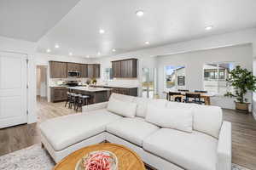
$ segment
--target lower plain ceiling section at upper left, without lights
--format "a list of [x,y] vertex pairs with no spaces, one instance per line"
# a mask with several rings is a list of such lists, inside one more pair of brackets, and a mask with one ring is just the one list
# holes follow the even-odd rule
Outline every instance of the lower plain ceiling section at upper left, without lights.
[[0,36],[37,42],[79,0],[1,0]]

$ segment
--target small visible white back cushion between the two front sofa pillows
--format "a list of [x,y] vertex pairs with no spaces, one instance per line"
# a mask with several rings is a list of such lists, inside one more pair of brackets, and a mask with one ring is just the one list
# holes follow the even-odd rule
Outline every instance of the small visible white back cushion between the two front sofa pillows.
[[145,118],[147,114],[148,103],[152,99],[147,98],[135,98],[135,102],[137,103],[136,116],[140,116]]

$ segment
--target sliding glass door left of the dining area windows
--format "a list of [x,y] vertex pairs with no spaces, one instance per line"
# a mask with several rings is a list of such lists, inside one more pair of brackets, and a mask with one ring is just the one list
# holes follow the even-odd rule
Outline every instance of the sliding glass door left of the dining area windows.
[[143,98],[153,99],[157,94],[156,90],[156,69],[143,68]]

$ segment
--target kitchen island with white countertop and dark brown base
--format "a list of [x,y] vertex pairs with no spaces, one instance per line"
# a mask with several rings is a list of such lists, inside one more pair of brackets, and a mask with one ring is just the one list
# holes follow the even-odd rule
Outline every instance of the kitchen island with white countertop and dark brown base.
[[70,92],[76,94],[89,95],[89,104],[96,104],[108,101],[112,88],[93,88],[93,87],[70,87]]

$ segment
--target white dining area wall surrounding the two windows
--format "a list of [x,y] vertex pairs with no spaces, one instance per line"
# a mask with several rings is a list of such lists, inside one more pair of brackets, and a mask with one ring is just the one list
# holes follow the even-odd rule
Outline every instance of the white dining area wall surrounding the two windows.
[[[183,54],[172,54],[158,57],[159,94],[164,91],[164,67],[166,65],[184,65],[186,71],[186,87],[194,91],[203,89],[203,65],[212,62],[235,62],[235,65],[253,71],[253,46],[252,44],[237,45],[225,48],[207,49]],[[252,94],[247,94],[252,102]],[[235,109],[233,99],[212,99],[212,105],[223,108]]]

